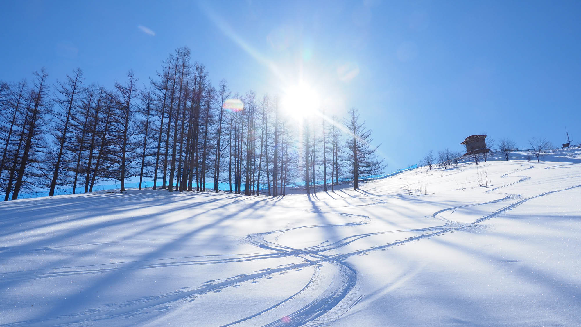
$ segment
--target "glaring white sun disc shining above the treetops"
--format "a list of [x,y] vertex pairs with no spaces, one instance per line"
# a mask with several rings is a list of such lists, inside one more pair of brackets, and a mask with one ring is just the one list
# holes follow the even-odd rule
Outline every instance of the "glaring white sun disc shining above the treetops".
[[318,111],[321,100],[317,92],[307,84],[300,83],[286,89],[281,107],[287,115],[296,120],[313,115]]

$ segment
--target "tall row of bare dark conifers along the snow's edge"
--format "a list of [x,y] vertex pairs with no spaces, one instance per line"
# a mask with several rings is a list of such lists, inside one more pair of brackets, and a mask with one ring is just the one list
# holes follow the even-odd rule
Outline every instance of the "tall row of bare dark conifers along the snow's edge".
[[[334,189],[340,179],[378,175],[383,161],[356,109],[346,119],[313,115],[301,123],[278,97],[232,94],[212,86],[187,47],[163,62],[147,85],[130,70],[111,89],[88,84],[81,69],[51,85],[45,69],[29,83],[0,83],[0,191],[49,196],[94,189],[102,180],[153,179],[153,189],[206,191],[225,183],[236,194],[284,195]],[[157,181],[161,180],[161,186]]]

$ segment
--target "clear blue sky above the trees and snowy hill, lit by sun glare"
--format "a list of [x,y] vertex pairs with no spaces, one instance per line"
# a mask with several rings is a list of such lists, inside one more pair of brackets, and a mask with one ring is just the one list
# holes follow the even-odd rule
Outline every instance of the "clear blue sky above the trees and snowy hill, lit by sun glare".
[[581,141],[580,16],[579,1],[5,1],[0,80],[45,66],[147,83],[187,45],[232,91],[303,79],[327,113],[360,109],[389,172],[484,131]]

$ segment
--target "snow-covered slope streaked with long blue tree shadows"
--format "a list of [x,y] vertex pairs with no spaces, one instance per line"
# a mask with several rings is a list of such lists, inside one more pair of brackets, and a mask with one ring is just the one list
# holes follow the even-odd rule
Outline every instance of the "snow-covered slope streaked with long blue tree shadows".
[[578,325],[580,202],[578,149],[311,197],[10,201],[0,325]]

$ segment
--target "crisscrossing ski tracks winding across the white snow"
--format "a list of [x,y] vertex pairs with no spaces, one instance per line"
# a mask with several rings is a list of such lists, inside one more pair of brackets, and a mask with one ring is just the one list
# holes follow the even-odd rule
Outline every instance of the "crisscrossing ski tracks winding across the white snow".
[[[555,165],[550,166],[544,169],[555,169],[555,168],[568,168],[569,166],[575,166],[576,163],[568,163],[563,165]],[[525,170],[531,169],[533,166],[529,166],[528,168],[524,168],[521,170],[515,170],[514,172],[505,173],[502,175],[502,178],[508,177],[509,175],[520,173]],[[454,172],[456,173],[456,172]],[[453,173],[453,174],[454,174]],[[525,180],[529,180],[529,176],[519,176],[514,175],[515,177],[521,177],[519,180],[507,184],[503,184],[499,187],[496,187],[491,190],[487,190],[486,193],[495,192],[497,190],[503,189],[508,186],[512,186],[517,183],[524,182]],[[134,266],[130,269],[146,269],[146,268],[159,268],[164,266],[175,266],[175,265],[202,265],[202,264],[220,264],[220,263],[227,263],[227,262],[241,262],[241,261],[256,261],[256,260],[264,260],[268,258],[277,258],[277,257],[296,257],[300,258],[300,260],[304,261],[299,264],[288,264],[288,265],[281,265],[276,268],[265,268],[261,269],[260,271],[255,271],[248,274],[241,274],[232,276],[231,278],[222,279],[222,280],[209,280],[201,287],[196,289],[191,289],[191,287],[182,287],[182,290],[178,290],[176,292],[171,292],[167,294],[162,294],[160,296],[149,296],[144,298],[139,298],[137,300],[128,301],[123,304],[111,304],[105,305],[100,308],[95,308],[91,310],[87,310],[84,312],[77,312],[76,314],[71,315],[64,315],[60,317],[56,317],[53,319],[48,319],[41,321],[40,319],[31,320],[31,321],[21,321],[16,323],[5,324],[1,326],[21,326],[21,325],[69,325],[69,324],[83,324],[89,321],[100,321],[102,319],[109,319],[113,317],[121,317],[130,318],[134,317],[135,315],[139,314],[144,310],[158,310],[163,311],[169,308],[169,305],[173,303],[177,303],[178,301],[187,301],[188,299],[192,298],[189,301],[193,301],[193,297],[195,296],[203,296],[203,294],[209,292],[216,292],[217,290],[224,289],[225,287],[232,287],[237,286],[239,283],[249,282],[254,279],[263,278],[264,276],[271,275],[274,273],[282,273],[286,271],[292,271],[293,269],[302,269],[309,266],[312,266],[314,269],[313,275],[311,276],[309,282],[304,285],[302,289],[300,289],[295,294],[285,298],[284,300],[280,301],[277,304],[272,305],[271,307],[265,308],[255,314],[249,315],[248,317],[241,318],[237,321],[230,322],[222,327],[226,326],[235,326],[243,322],[251,322],[252,319],[261,317],[264,314],[268,314],[268,312],[274,310],[275,308],[279,308],[284,306],[285,304],[290,303],[291,301],[295,300],[300,294],[303,294],[311,289],[314,286],[317,280],[331,280],[331,285],[329,285],[326,289],[321,290],[313,300],[309,303],[304,304],[299,310],[296,310],[285,317],[278,317],[272,320],[270,323],[264,325],[268,327],[274,326],[301,326],[311,322],[309,325],[328,325],[333,322],[335,319],[338,319],[350,308],[353,308],[364,296],[353,296],[350,297],[350,303],[345,303],[345,299],[347,294],[353,289],[357,282],[357,271],[347,264],[345,260],[349,257],[354,255],[361,255],[368,253],[370,251],[382,250],[385,248],[399,246],[400,244],[405,244],[411,241],[421,240],[429,237],[433,237],[436,235],[440,235],[443,233],[456,231],[456,230],[464,230],[473,228],[474,226],[478,225],[479,223],[486,221],[487,219],[493,218],[503,212],[508,211],[514,207],[517,207],[524,202],[529,200],[533,200],[535,198],[543,197],[548,194],[557,193],[560,191],[572,190],[581,187],[581,184],[567,187],[565,189],[560,190],[551,190],[536,196],[531,196],[527,198],[522,198],[519,194],[509,194],[509,193],[501,193],[504,197],[499,198],[497,200],[491,200],[486,202],[480,202],[477,204],[467,204],[467,205],[460,205],[456,207],[444,208],[439,211],[434,212],[430,217],[439,219],[443,221],[443,225],[438,226],[431,226],[428,228],[421,228],[421,229],[402,229],[402,230],[389,230],[384,232],[374,232],[374,233],[363,233],[345,237],[338,241],[335,241],[331,244],[326,244],[327,241],[324,241],[317,246],[311,246],[306,248],[292,248],[288,246],[284,246],[283,244],[273,243],[271,241],[267,241],[265,239],[266,236],[271,236],[272,234],[278,234],[275,237],[275,240],[285,232],[290,232],[293,230],[299,229],[311,229],[311,228],[341,228],[345,226],[355,226],[355,225],[364,225],[371,221],[371,217],[365,215],[356,215],[350,214],[348,212],[323,212],[319,211],[318,209],[304,209],[307,212],[314,212],[316,214],[324,214],[324,215],[343,215],[347,217],[356,218],[357,221],[349,222],[349,223],[329,223],[329,224],[322,224],[322,225],[307,225],[307,226],[299,226],[295,228],[288,228],[288,229],[279,229],[273,230],[270,232],[264,233],[254,233],[249,234],[246,236],[246,241],[253,246],[262,248],[264,250],[272,251],[271,253],[267,254],[244,254],[244,255],[228,255],[229,258],[220,258],[220,259],[213,259],[213,260],[187,260],[193,258],[200,258],[200,257],[218,257],[210,255],[210,256],[196,256],[196,257],[181,257],[181,258],[174,258],[175,261],[162,259],[162,260],[148,260],[144,262],[143,265]],[[390,197],[390,196],[385,196]],[[343,207],[333,207],[334,209],[339,208],[352,208],[352,207],[360,207],[360,206],[367,206],[367,205],[377,205],[384,202],[381,198],[378,197],[360,197],[357,200],[374,200],[375,202],[368,203],[368,204],[358,204],[358,205],[345,205]],[[481,216],[480,218],[476,219],[471,223],[461,223],[450,221],[440,216],[440,214],[447,212],[447,211],[454,211],[458,208],[467,208],[467,207],[476,207],[481,205],[487,204],[496,204],[499,202],[507,202],[511,200],[514,201],[504,207],[497,209],[496,211],[491,212],[490,214]],[[414,232],[418,233],[415,236],[407,237],[403,240],[395,240],[388,244],[383,244],[381,246],[375,246],[370,248],[365,248],[362,250],[352,251],[350,253],[344,254],[336,254],[336,255],[325,255],[324,253],[331,251],[331,250],[338,250],[342,247],[345,247],[347,244],[352,243],[353,241],[363,239],[365,237],[374,236],[378,234],[387,234],[387,233],[401,233],[401,232]],[[101,244],[101,243],[95,243]],[[49,251],[55,250],[51,248],[40,248],[37,250],[42,251]],[[2,251],[10,251],[10,248],[0,248],[0,253]],[[155,261],[164,261],[164,262],[155,262]],[[116,269],[124,269],[124,268],[117,268],[115,265],[123,264],[124,262],[117,262],[112,264],[100,264],[100,265],[90,265],[90,266],[76,266],[76,267],[63,267],[60,268],[59,271],[54,271],[55,269],[51,269],[52,272],[42,272],[45,269],[37,269],[39,272],[34,276],[13,276],[16,272],[8,272],[0,274],[0,278],[2,278],[3,282],[14,282],[19,280],[27,280],[27,279],[40,279],[40,278],[51,278],[55,276],[65,276],[65,275],[75,275],[75,274],[91,274],[91,273],[103,273],[114,271]],[[325,275],[323,276],[321,273],[321,267],[327,266],[327,268],[332,268],[333,275]],[[69,269],[75,268],[75,269]],[[89,268],[89,269],[79,269],[79,268]],[[68,269],[68,270],[67,270]],[[345,310],[341,312],[337,312],[338,310],[331,311],[335,308],[340,302],[342,302],[342,307],[346,307]],[[331,311],[331,312],[330,312]]]

